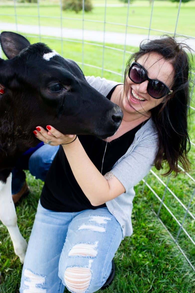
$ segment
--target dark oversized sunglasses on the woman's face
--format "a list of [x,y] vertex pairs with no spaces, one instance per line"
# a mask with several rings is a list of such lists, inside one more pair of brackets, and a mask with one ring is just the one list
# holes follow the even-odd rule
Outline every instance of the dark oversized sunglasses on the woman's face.
[[135,62],[135,60],[130,65],[128,76],[135,84],[141,84],[145,80],[148,80],[147,92],[152,98],[160,99],[173,92],[162,81],[150,79],[143,66]]

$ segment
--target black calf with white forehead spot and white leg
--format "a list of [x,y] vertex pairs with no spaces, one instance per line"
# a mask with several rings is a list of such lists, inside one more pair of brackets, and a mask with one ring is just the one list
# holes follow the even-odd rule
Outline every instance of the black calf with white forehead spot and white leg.
[[[113,135],[122,112],[92,88],[72,60],[43,43],[30,45],[23,36],[2,32],[0,58],[0,219],[7,226],[16,255],[24,260],[27,243],[21,236],[11,197],[11,169],[18,157],[40,141],[37,125],[51,124],[64,134]],[[3,91],[2,91],[3,92]]]

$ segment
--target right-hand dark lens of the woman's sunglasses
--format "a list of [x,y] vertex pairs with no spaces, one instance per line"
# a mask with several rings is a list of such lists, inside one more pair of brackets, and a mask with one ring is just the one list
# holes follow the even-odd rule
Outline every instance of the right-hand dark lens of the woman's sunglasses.
[[153,98],[161,98],[167,95],[168,88],[160,81],[150,80],[147,86],[150,96]]

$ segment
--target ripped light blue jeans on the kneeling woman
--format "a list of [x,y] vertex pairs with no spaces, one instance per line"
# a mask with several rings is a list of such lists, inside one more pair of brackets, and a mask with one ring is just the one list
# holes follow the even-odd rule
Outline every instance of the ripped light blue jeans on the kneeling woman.
[[53,212],[38,204],[20,293],[92,293],[111,272],[122,229],[106,207]]

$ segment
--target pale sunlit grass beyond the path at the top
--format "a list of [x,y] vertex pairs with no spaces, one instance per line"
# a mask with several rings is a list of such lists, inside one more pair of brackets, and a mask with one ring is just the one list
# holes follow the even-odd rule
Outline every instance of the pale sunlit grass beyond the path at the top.
[[[84,14],[84,28],[89,30],[104,29],[104,1],[92,1],[94,9],[92,12]],[[6,5],[9,3],[12,5]],[[120,7],[106,8],[106,30],[114,32],[125,32],[127,6],[119,1],[109,3],[120,4]],[[108,3],[108,4],[109,4]],[[108,5],[107,4],[107,5]],[[97,6],[102,5],[102,6]],[[15,11],[13,1],[2,2],[0,4],[0,21],[15,22]],[[194,36],[195,27],[195,1],[190,1],[181,5],[177,33]],[[38,25],[38,8],[36,4],[17,4],[17,22],[20,24]],[[40,25],[60,27],[60,5],[41,2],[39,6]],[[155,1],[152,13],[152,29],[174,32],[177,20],[178,4],[169,1]],[[148,28],[150,24],[151,4],[149,1],[134,1],[129,7],[128,25]],[[82,12],[74,13],[62,11],[62,26],[64,28],[82,28]],[[74,19],[69,19],[74,18]],[[96,22],[97,21],[97,22]],[[108,22],[112,24],[108,24]],[[147,29],[128,27],[128,33],[147,34]],[[152,32],[157,34],[157,32]],[[152,34],[151,33],[151,34]],[[162,34],[162,33],[159,33]]]

